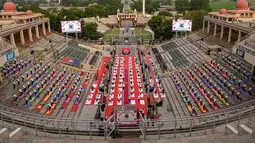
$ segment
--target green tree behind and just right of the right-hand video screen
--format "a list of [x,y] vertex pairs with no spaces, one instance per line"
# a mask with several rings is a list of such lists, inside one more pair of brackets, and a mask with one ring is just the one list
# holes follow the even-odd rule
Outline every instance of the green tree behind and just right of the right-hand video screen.
[[195,31],[202,28],[203,19],[207,13],[205,10],[189,11],[183,18],[192,20],[192,31]]

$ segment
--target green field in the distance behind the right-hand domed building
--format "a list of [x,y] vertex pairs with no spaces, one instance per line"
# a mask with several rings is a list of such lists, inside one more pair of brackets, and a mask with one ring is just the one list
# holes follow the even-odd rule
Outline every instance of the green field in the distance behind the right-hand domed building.
[[223,0],[210,4],[212,11],[220,11],[222,8],[226,10],[234,10],[236,3],[234,1],[224,2]]

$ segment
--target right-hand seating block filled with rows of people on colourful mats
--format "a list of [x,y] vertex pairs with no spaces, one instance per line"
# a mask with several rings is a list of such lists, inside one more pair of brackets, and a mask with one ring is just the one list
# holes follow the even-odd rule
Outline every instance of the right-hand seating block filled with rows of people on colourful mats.
[[[228,67],[223,67],[215,61],[203,62],[202,65],[173,72],[171,78],[180,96],[174,92],[170,93],[181,97],[188,111],[193,114],[216,111],[248,101],[254,96],[254,89],[249,83],[240,80]],[[166,81],[163,83],[168,87]],[[181,110],[177,109],[177,104],[182,103],[175,103],[174,110]]]

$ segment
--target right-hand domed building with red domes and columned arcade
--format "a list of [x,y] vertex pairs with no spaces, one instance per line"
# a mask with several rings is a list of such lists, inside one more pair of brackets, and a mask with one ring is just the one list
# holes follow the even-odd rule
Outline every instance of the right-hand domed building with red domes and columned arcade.
[[255,11],[250,10],[246,0],[237,0],[234,10],[222,8],[204,17],[203,31],[212,34],[227,44],[240,42],[245,35],[254,31]]

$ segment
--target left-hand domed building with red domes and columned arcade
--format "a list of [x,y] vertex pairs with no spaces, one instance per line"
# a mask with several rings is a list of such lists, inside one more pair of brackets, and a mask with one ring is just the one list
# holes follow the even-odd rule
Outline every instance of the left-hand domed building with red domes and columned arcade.
[[[46,28],[48,30],[46,30]],[[44,14],[17,11],[13,2],[6,2],[0,13],[0,36],[16,45],[25,45],[50,33],[50,20]]]

